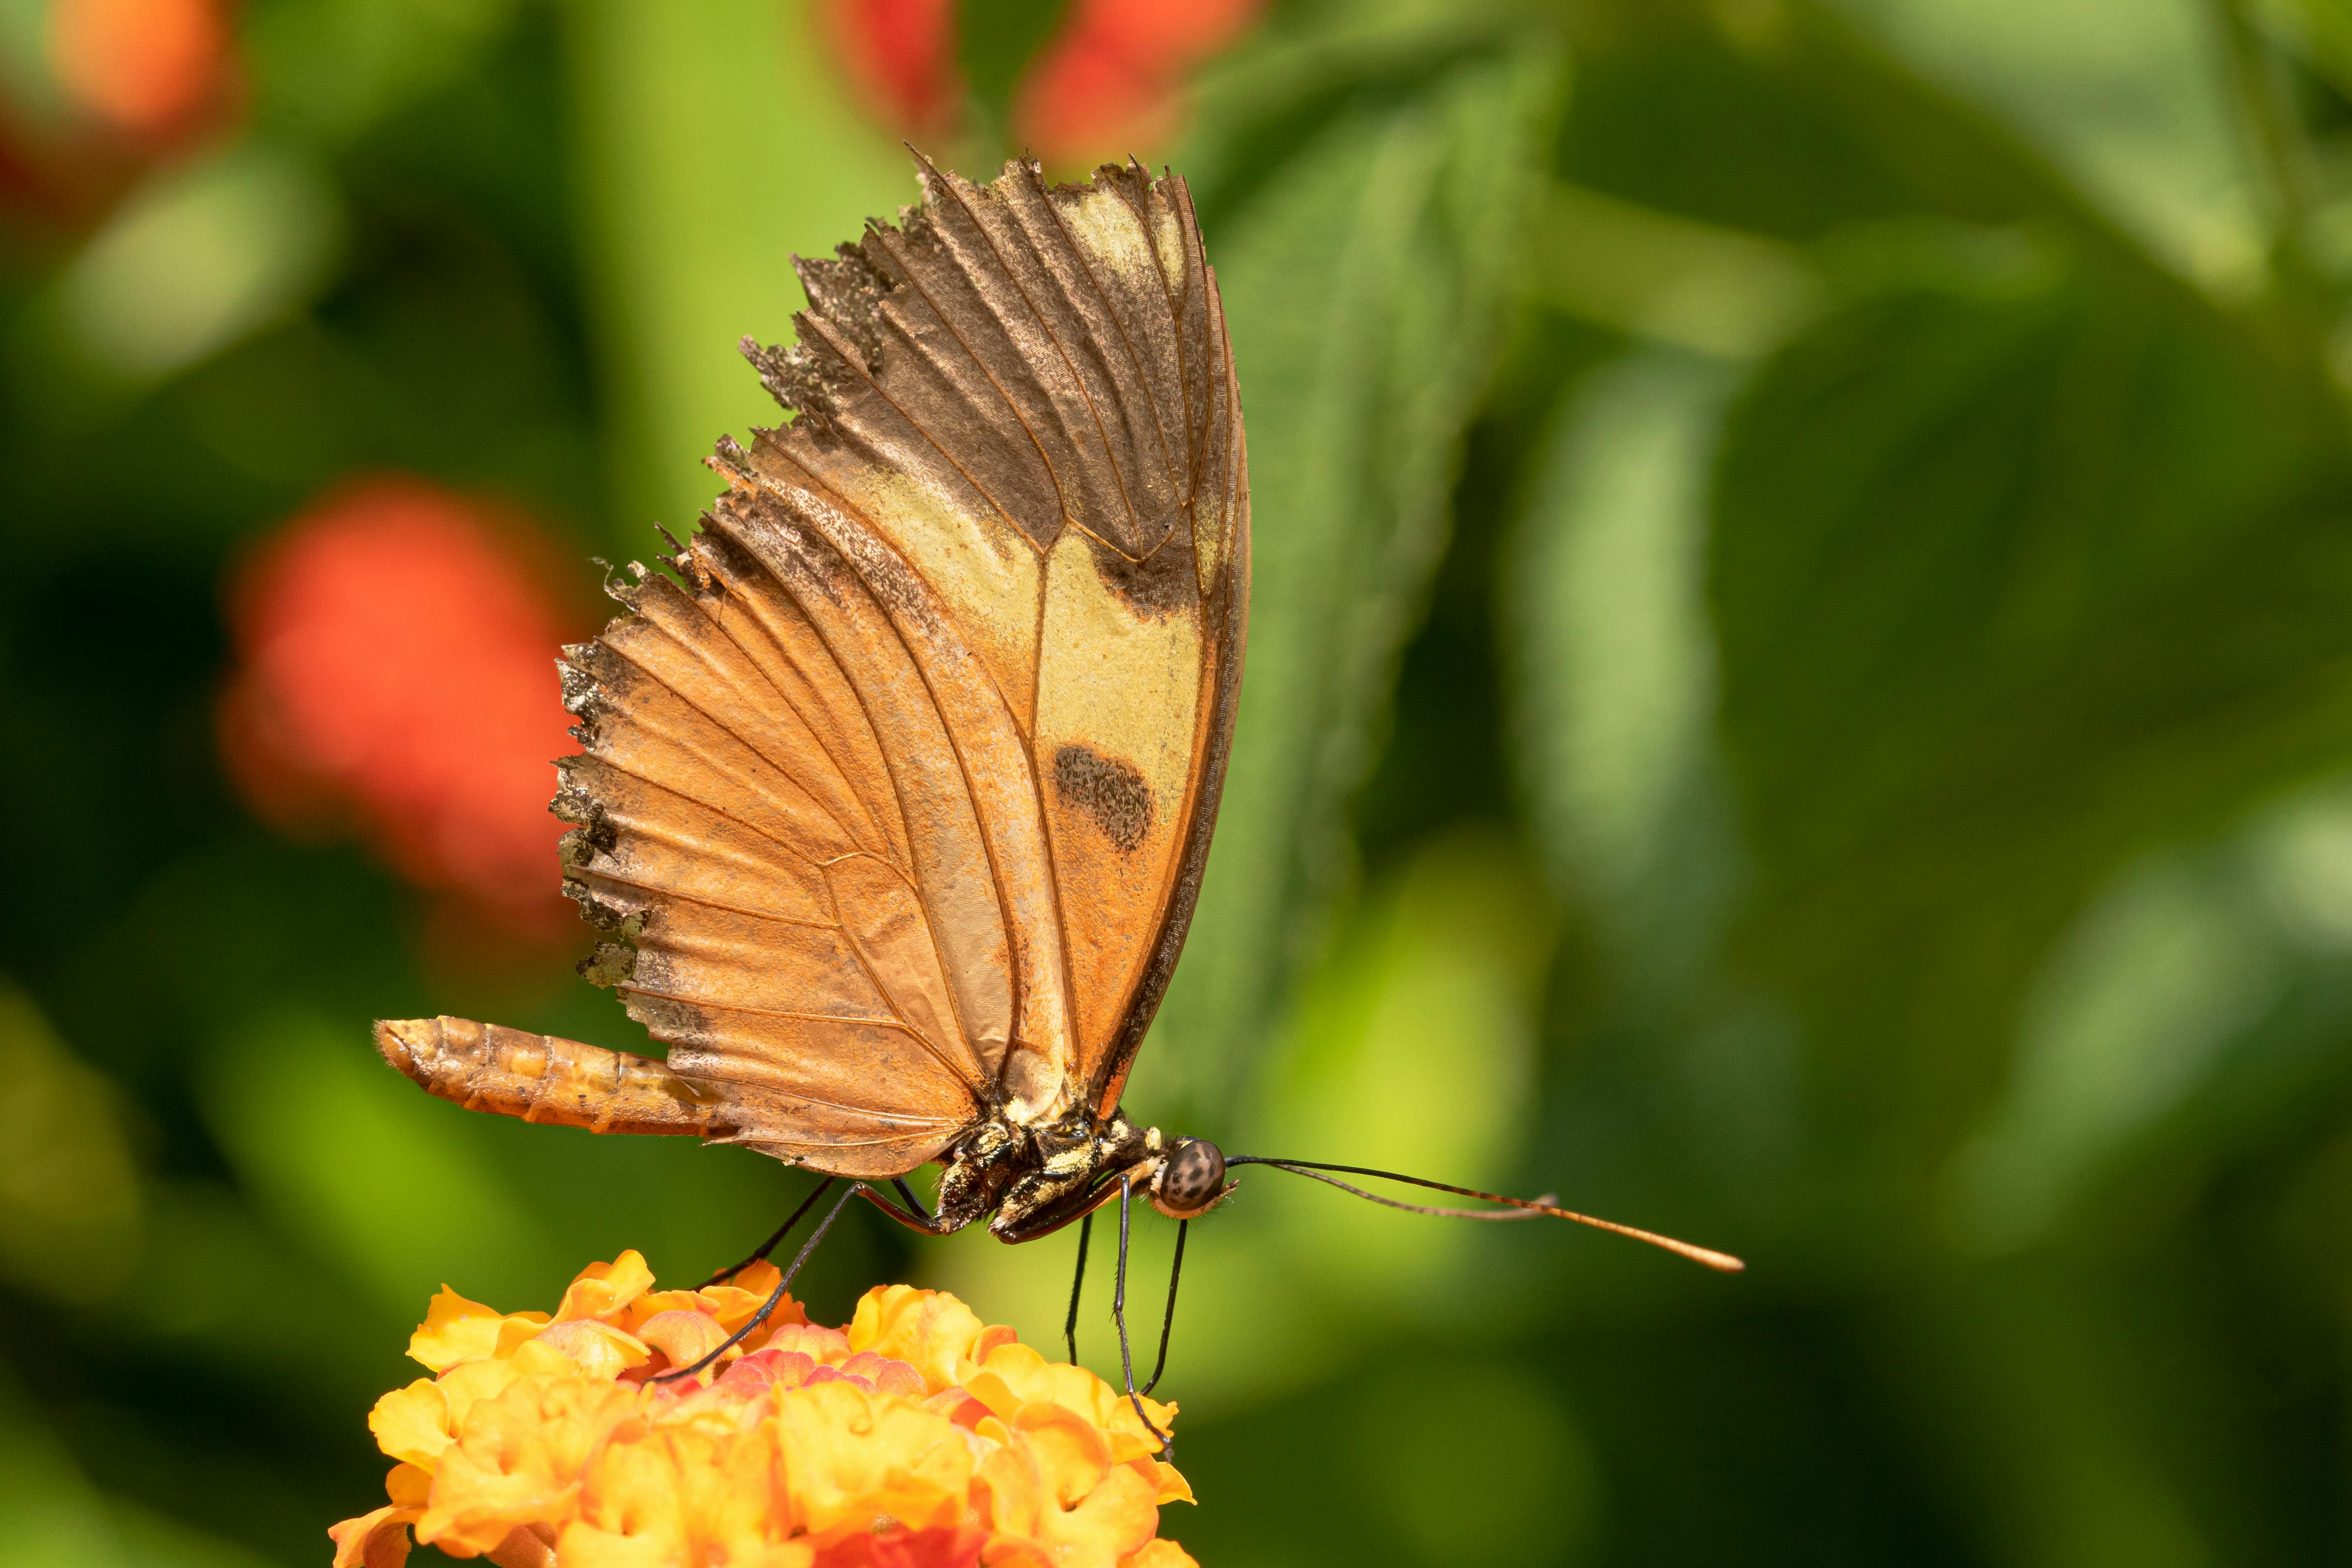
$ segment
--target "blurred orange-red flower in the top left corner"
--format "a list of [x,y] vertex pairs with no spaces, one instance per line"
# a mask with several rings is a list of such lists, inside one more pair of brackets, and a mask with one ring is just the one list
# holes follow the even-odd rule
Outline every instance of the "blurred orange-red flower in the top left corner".
[[52,0],[49,59],[85,110],[136,141],[174,141],[230,80],[221,0]]

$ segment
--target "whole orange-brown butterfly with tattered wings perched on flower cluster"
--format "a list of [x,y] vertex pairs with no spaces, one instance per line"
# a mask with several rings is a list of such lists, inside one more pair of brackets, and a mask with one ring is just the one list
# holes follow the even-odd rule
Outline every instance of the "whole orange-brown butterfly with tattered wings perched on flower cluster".
[[[795,418],[720,442],[727,489],[691,541],[663,534],[668,571],[633,567],[612,588],[628,614],[560,661],[581,743],[553,804],[564,891],[604,933],[581,971],[668,1058],[419,1018],[376,1025],[386,1060],[470,1110],[823,1173],[736,1269],[835,1178],[851,1187],[802,1260],[863,1197],[934,1234],[985,1220],[1033,1241],[1077,1220],[1084,1269],[1084,1225],[1117,1201],[1122,1359],[1129,1199],[1183,1227],[1242,1164],[1738,1267],[1550,1201],[1228,1159],[1129,1121],[1242,684],[1249,456],[1225,315],[1171,174],[1049,186],[1023,160],[974,186],[920,155],[917,174],[896,226],[795,259],[797,343],[743,341]],[[906,1185],[924,1164],[931,1206]],[[1505,1208],[1432,1211],[1331,1173]],[[1075,1316],[1073,1288],[1073,1359]]]

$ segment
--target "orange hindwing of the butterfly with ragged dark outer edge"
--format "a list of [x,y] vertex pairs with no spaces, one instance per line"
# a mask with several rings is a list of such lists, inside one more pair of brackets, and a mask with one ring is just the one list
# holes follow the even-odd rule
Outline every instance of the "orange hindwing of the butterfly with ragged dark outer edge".
[[[873,701],[920,679],[873,637],[851,574],[811,592],[814,571],[795,583],[724,534],[684,564],[691,592],[647,578],[637,614],[569,649],[586,752],[557,797],[579,823],[567,891],[619,938],[590,973],[717,1093],[731,1138],[828,1171],[913,1168],[988,1103],[978,1037],[1009,1011],[1002,931],[931,936],[950,924],[931,905],[969,905],[985,858],[969,802],[955,820],[891,790],[891,752],[953,776],[953,750],[936,712]],[[950,987],[955,959],[978,997]]]

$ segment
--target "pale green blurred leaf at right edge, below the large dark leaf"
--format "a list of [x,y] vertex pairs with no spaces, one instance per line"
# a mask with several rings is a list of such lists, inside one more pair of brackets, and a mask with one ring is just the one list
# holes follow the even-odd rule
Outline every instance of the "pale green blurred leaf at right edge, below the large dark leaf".
[[2140,1175],[2216,1159],[2249,1124],[2326,1095],[2347,959],[2340,780],[2126,865],[2032,980],[2016,1067],[1947,1171],[1955,1244],[1980,1255],[2096,1229]]

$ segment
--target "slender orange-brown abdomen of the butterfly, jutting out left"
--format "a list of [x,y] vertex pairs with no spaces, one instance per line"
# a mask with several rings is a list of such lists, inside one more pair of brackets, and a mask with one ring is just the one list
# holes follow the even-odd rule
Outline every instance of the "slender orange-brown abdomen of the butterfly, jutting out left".
[[376,1051],[466,1110],[590,1133],[724,1133],[717,1100],[649,1056],[470,1018],[376,1020]]

